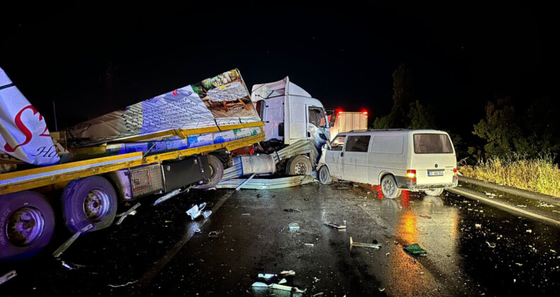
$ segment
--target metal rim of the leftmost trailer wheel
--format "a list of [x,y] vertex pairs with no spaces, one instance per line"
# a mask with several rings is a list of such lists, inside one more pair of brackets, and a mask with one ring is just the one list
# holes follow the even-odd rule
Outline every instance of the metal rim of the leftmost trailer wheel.
[[9,242],[20,248],[35,243],[45,228],[45,216],[35,207],[21,207],[10,214],[6,225]]

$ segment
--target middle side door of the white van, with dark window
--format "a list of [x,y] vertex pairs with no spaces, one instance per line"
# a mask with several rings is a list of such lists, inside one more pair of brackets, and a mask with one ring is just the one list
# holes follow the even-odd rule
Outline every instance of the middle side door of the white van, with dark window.
[[349,135],[342,160],[342,179],[368,182],[368,150],[371,135]]

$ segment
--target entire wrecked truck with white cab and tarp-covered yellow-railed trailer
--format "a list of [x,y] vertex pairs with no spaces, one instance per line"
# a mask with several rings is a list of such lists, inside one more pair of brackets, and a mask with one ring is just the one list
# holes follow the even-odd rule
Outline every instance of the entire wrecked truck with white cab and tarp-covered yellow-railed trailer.
[[[45,248],[57,215],[72,233],[87,233],[111,226],[118,202],[228,187],[244,175],[308,175],[329,139],[318,100],[288,78],[250,95],[237,69],[52,134],[21,93],[14,107],[11,81],[2,87],[1,260]],[[15,115],[43,124],[19,129]],[[47,160],[26,132],[47,140]]]

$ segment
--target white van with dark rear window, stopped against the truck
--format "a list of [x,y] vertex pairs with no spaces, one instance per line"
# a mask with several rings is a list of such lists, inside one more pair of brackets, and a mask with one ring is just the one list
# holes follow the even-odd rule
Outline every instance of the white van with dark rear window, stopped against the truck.
[[323,146],[318,177],[381,185],[387,198],[402,189],[437,196],[457,187],[457,156],[449,134],[437,130],[362,130]]

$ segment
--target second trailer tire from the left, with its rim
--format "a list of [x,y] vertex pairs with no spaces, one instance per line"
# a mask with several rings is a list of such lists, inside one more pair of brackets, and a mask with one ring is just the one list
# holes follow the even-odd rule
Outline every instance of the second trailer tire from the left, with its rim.
[[72,233],[88,226],[87,232],[111,226],[117,212],[117,194],[111,182],[100,176],[72,180],[62,193],[66,226]]

